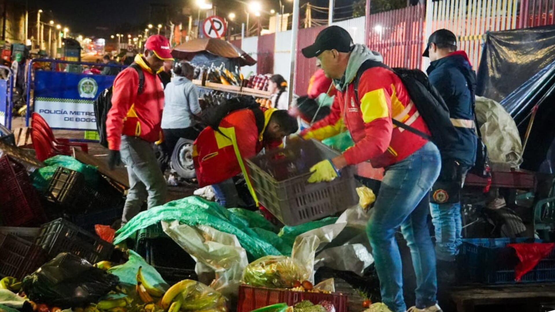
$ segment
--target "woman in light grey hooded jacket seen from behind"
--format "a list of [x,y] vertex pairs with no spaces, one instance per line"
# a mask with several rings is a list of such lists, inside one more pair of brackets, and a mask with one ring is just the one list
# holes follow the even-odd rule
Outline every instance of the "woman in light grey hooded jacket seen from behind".
[[180,138],[196,139],[198,130],[194,115],[200,115],[199,91],[191,82],[194,67],[186,61],[179,61],[174,66],[174,77],[164,89],[164,112],[162,113],[162,130],[164,147],[171,155]]

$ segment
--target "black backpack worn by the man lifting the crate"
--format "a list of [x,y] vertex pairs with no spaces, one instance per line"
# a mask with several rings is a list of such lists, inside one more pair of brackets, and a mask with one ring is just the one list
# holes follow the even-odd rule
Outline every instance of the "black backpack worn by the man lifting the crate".
[[408,95],[410,96],[412,102],[416,105],[418,112],[428,125],[428,129],[430,129],[430,133],[432,135],[430,137],[430,135],[427,135],[426,133],[423,133],[420,130],[410,127],[395,119],[392,119],[393,124],[397,127],[420,135],[427,140],[431,140],[437,145],[437,148],[440,149],[442,155],[448,155],[450,148],[453,146],[452,143],[458,142],[460,137],[455,129],[455,126],[453,126],[451,122],[447,104],[445,104],[445,101],[443,101],[443,98],[437,92],[437,89],[430,83],[426,74],[419,69],[392,69],[384,63],[368,60],[362,63],[354,80],[356,100],[359,100],[358,89],[360,77],[366,69],[372,67],[389,69],[401,79],[401,82],[407,89]]

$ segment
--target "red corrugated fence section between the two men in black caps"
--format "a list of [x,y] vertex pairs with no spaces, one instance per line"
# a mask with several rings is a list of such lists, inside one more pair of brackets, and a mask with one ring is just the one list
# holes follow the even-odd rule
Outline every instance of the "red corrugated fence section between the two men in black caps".
[[369,48],[380,52],[388,66],[421,68],[424,17],[422,4],[371,14]]

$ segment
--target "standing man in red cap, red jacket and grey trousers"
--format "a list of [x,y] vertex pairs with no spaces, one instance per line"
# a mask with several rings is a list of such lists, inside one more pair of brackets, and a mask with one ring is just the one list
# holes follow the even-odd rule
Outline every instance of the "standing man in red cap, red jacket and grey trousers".
[[139,92],[139,74],[134,68],[124,69],[114,80],[106,134],[109,167],[113,169],[123,160],[129,175],[122,226],[139,213],[145,199],[148,208],[165,203],[166,184],[153,143],[161,138],[164,108],[164,87],[157,73],[169,59],[173,57],[168,39],[150,36],[144,54],[137,54],[134,61],[144,76],[143,89]]

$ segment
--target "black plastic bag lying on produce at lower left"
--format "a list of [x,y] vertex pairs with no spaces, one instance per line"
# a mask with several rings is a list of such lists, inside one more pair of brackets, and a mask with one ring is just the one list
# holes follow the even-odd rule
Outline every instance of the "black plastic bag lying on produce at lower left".
[[95,268],[87,260],[60,253],[23,279],[23,291],[37,303],[66,309],[96,303],[118,283],[117,276]]

